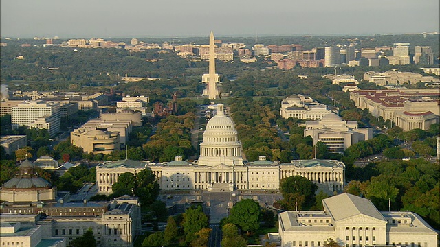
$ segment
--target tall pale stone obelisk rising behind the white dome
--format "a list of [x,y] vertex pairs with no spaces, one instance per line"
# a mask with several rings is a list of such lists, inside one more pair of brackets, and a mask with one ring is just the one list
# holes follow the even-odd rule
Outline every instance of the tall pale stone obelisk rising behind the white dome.
[[209,36],[209,73],[203,74],[201,82],[206,83],[206,89],[203,91],[203,95],[208,95],[209,99],[216,99],[219,95],[219,89],[217,89],[217,82],[220,82],[220,77],[215,73],[215,45],[214,45],[214,33],[211,31]]

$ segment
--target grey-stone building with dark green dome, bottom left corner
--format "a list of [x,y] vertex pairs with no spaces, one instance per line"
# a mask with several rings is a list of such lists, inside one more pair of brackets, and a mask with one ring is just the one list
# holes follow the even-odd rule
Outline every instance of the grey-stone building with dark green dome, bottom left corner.
[[19,174],[0,188],[1,247],[65,247],[89,228],[99,247],[133,246],[141,234],[137,198],[70,202],[69,193],[57,193],[56,187],[36,174],[35,167],[23,161]]

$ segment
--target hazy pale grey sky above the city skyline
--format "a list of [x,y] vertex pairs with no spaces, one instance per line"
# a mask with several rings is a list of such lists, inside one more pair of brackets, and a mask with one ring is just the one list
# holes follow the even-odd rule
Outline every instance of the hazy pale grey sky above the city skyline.
[[1,0],[1,37],[404,34],[439,31],[439,0]]

